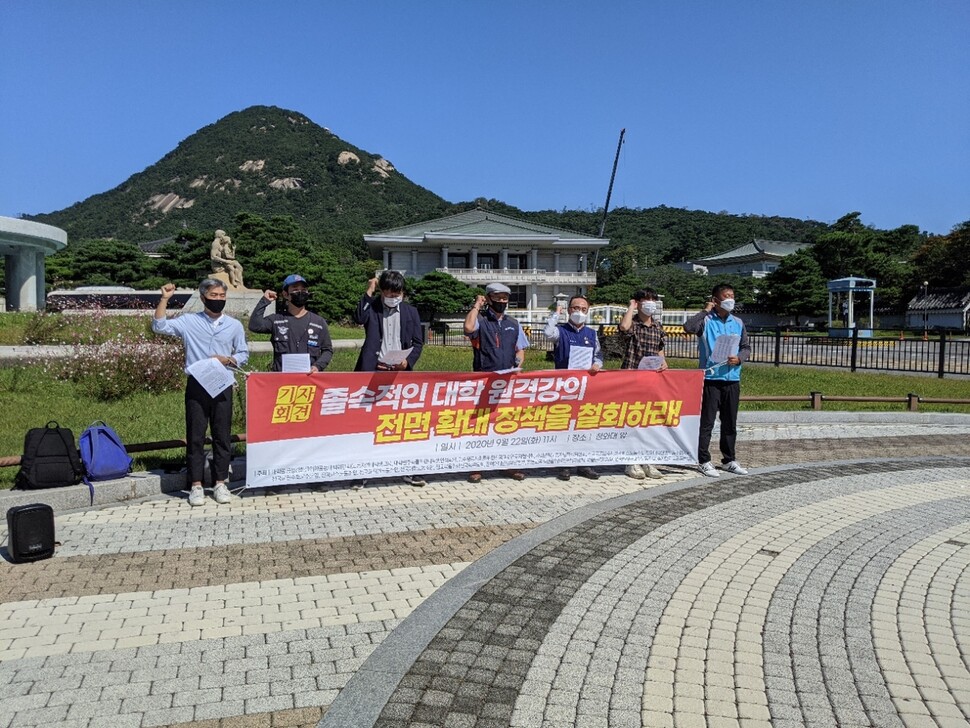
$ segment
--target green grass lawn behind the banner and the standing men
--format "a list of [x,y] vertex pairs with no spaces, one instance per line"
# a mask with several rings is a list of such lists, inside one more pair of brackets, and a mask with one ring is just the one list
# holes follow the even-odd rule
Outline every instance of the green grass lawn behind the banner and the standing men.
[[[0,316],[0,322],[6,317]],[[334,338],[349,338],[334,335]],[[425,347],[419,362],[423,371],[470,371],[469,347]],[[357,351],[340,349],[334,354],[329,371],[353,371]],[[265,371],[268,354],[254,355],[248,368]],[[693,360],[672,360],[674,368],[693,368]],[[607,368],[618,368],[619,360],[608,360]],[[548,369],[545,352],[527,351],[527,370]],[[808,367],[775,368],[771,365],[748,364],[741,380],[743,395],[808,395],[820,391],[826,395],[904,397],[914,392],[924,397],[946,397],[970,400],[970,379],[936,379],[901,374],[851,373],[837,369]],[[39,367],[7,366],[0,368],[0,400],[5,424],[0,431],[0,457],[19,455],[24,434],[56,420],[69,427],[75,436],[94,420],[104,420],[125,442],[154,442],[181,439],[185,434],[182,392],[162,395],[139,394],[118,402],[99,402],[84,396],[74,384],[51,379]],[[743,410],[807,410],[806,403],[743,402]],[[902,413],[902,404],[826,403],[825,409],[890,410]],[[235,408],[233,432],[245,431],[243,408]],[[970,413],[966,405],[921,405],[920,411]],[[136,455],[136,469],[181,467],[184,450],[167,450]],[[0,468],[0,488],[9,488],[17,468]]]

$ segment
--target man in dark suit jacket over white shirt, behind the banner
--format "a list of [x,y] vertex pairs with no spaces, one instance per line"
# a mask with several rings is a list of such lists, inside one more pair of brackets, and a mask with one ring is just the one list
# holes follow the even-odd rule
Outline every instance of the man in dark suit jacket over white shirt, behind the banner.
[[[374,295],[380,289],[381,295]],[[414,369],[424,336],[418,309],[404,302],[404,276],[396,270],[386,270],[380,279],[371,278],[367,293],[360,298],[354,321],[364,327],[364,345],[357,357],[355,372],[410,371]],[[392,351],[411,350],[407,359],[398,364],[385,364]],[[406,475],[409,485],[426,485],[420,475]]]

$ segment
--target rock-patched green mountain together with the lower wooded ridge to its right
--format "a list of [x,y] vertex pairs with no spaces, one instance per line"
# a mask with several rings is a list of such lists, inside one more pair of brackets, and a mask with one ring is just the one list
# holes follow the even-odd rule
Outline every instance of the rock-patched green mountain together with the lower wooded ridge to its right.
[[[475,205],[592,235],[602,215],[524,212],[494,199],[452,204],[303,114],[253,106],[200,129],[113,190],[30,219],[63,228],[72,242],[139,243],[186,229],[209,236],[217,228],[231,229],[241,212],[265,219],[287,215],[314,240],[337,243],[362,257],[365,233]],[[630,251],[627,255],[645,267],[712,255],[754,238],[813,242],[827,229],[810,220],[660,206],[612,210],[605,234],[612,251]]]

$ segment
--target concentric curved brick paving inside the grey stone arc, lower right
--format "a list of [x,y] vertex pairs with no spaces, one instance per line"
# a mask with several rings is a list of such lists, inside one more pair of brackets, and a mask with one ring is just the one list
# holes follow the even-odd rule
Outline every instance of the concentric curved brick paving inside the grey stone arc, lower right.
[[[970,630],[951,615],[970,566],[968,464],[645,493],[477,590],[375,725],[966,725]],[[933,558],[917,568],[915,554]],[[949,581],[929,590],[943,560]],[[893,589],[909,581],[923,604],[903,616]]]

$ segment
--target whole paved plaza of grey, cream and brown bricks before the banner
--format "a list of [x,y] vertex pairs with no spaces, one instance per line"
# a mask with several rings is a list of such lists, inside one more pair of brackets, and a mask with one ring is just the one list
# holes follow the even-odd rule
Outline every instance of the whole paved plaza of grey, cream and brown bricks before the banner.
[[970,417],[738,443],[748,476],[60,514],[54,558],[0,563],[0,727],[970,725]]

